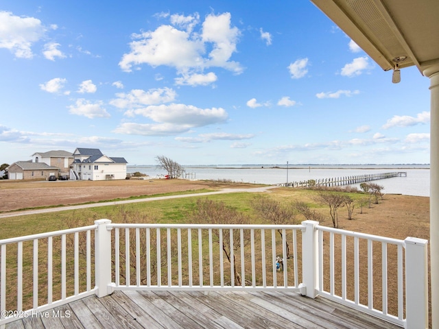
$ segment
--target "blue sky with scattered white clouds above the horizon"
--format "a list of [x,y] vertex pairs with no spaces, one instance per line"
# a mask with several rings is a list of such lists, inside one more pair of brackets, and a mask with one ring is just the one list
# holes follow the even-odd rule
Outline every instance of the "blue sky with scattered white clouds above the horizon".
[[429,80],[401,83],[310,1],[2,1],[0,162],[429,163]]

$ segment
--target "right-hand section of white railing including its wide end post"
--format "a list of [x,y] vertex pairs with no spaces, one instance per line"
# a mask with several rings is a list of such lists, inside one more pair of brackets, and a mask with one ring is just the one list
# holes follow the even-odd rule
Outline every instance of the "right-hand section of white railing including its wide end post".
[[317,230],[319,295],[406,328],[428,327],[426,240]]

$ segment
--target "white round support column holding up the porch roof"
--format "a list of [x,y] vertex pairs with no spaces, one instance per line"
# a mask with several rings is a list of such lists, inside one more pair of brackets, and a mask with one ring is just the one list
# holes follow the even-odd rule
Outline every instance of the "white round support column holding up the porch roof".
[[[431,310],[439,310],[439,64],[427,67],[430,79],[430,276]],[[439,329],[439,313],[431,312],[433,329]]]

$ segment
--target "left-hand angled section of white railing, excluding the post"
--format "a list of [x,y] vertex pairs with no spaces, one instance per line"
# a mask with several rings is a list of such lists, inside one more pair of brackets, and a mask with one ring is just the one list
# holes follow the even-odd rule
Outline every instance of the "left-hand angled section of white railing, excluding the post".
[[96,228],[0,240],[0,325],[95,293]]

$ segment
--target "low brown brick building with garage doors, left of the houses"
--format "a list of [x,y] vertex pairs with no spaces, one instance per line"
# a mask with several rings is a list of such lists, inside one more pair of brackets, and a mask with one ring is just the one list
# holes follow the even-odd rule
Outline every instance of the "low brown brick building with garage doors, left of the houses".
[[17,161],[8,168],[8,179],[10,180],[47,180],[50,175],[56,175],[60,169],[49,166],[45,162]]

